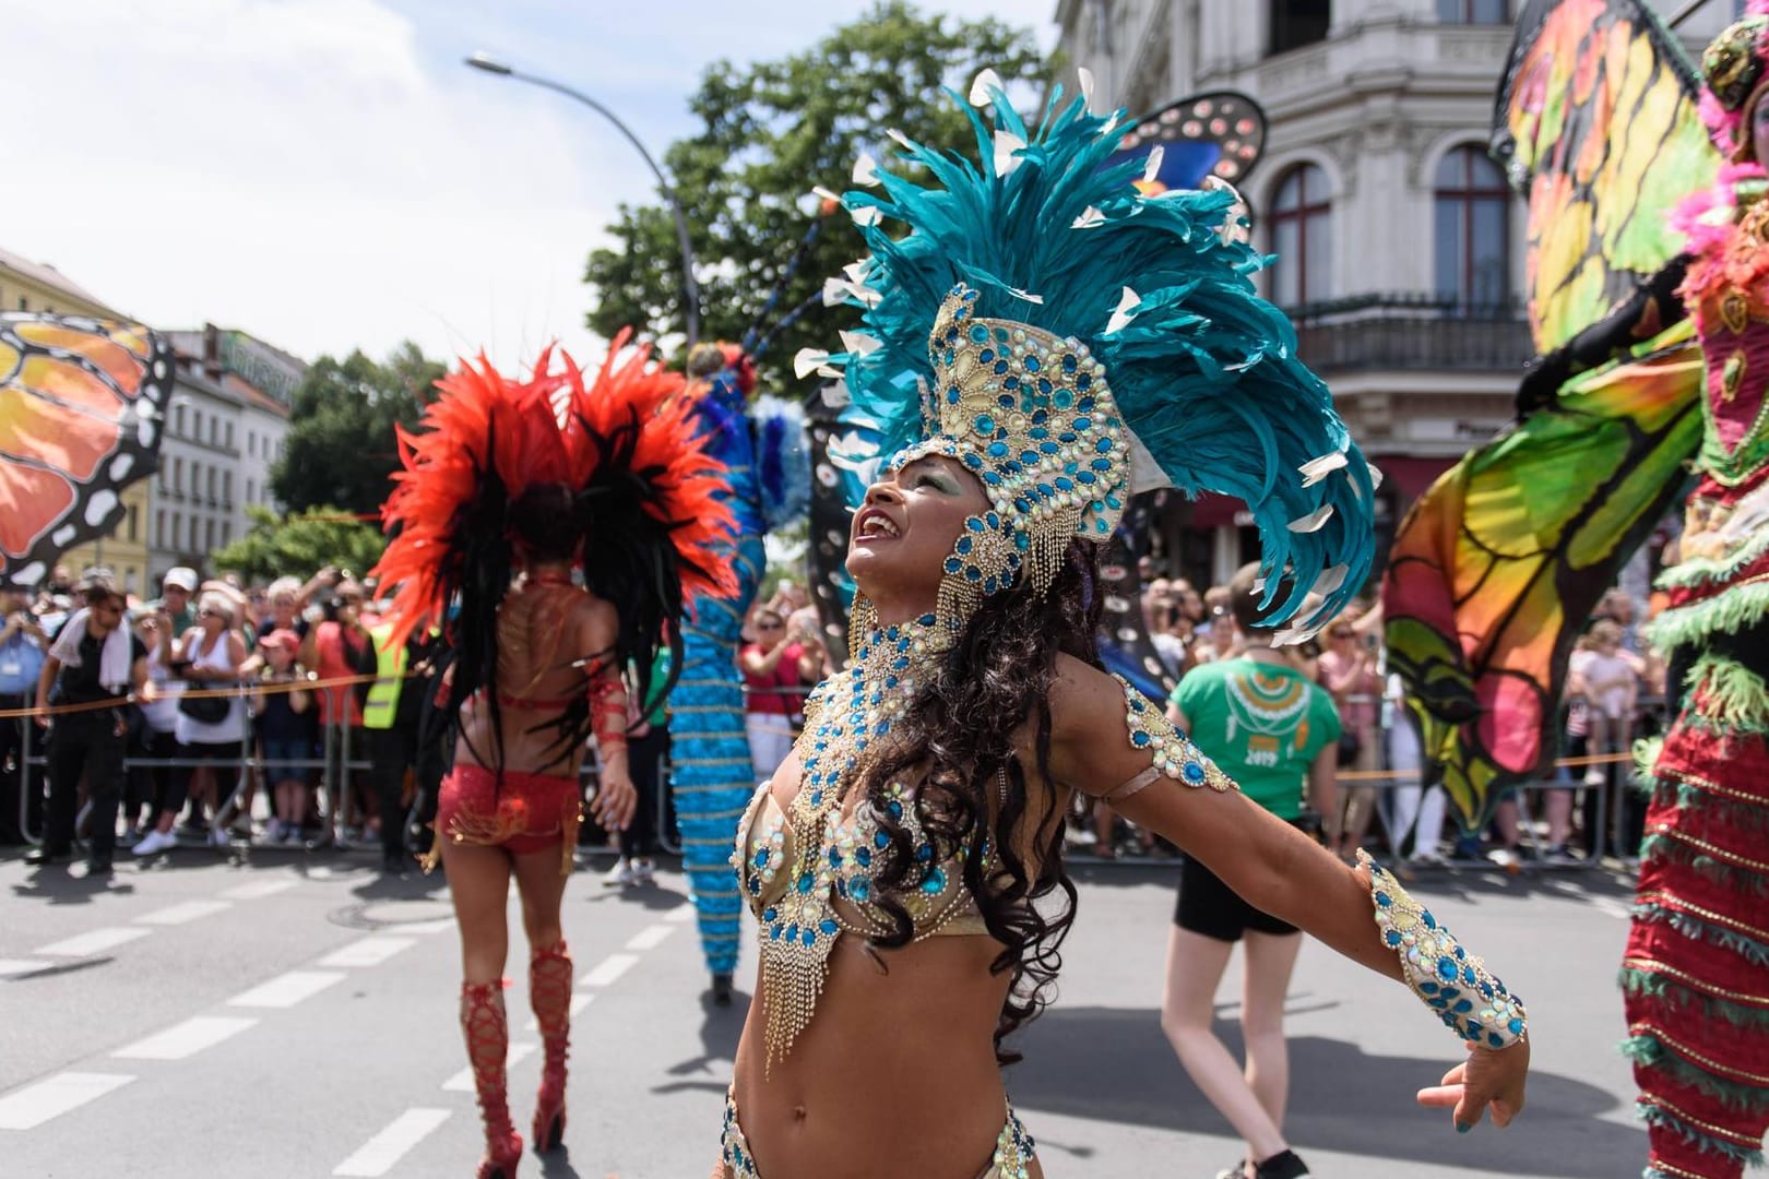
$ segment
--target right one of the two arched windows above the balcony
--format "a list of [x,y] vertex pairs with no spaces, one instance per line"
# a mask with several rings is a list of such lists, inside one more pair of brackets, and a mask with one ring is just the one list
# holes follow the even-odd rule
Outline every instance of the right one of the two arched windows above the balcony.
[[1458,147],[1436,170],[1433,202],[1436,295],[1463,315],[1491,315],[1511,299],[1511,189],[1477,147]]

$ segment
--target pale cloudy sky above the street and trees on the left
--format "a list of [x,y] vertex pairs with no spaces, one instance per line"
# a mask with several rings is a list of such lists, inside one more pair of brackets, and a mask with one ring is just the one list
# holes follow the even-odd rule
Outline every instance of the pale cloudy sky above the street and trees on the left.
[[[591,111],[460,65],[575,85],[653,154],[702,69],[780,57],[863,0],[55,0],[11,5],[0,246],[159,327],[301,355],[405,338],[513,364],[580,327],[584,255],[644,164]],[[936,0],[1054,42],[1054,0]]]

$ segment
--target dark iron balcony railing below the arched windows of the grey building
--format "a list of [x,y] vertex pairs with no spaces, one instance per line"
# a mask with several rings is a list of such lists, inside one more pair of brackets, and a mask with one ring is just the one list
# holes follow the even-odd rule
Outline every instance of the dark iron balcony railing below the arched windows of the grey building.
[[1320,373],[1452,369],[1518,373],[1535,355],[1523,308],[1438,295],[1353,295],[1291,308],[1297,350]]

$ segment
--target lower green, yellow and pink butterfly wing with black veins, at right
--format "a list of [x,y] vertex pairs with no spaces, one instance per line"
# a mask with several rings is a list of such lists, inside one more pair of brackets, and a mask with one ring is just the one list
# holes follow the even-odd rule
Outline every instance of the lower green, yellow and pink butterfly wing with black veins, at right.
[[1693,325],[1574,377],[1413,504],[1382,589],[1389,663],[1467,829],[1558,755],[1580,628],[1686,490],[1702,438]]

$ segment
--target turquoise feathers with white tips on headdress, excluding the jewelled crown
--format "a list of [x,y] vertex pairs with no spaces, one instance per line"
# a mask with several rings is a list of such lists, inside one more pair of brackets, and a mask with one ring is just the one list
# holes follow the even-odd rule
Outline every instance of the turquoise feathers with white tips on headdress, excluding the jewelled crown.
[[1375,486],[1327,385],[1297,357],[1290,320],[1254,290],[1272,260],[1237,233],[1237,196],[1143,196],[1136,163],[1106,163],[1123,115],[1090,115],[1083,99],[1061,106],[1060,90],[1035,129],[987,76],[973,101],[987,103],[966,108],[980,163],[893,136],[930,182],[879,170],[881,191],[842,198],[872,253],[826,290],[865,308],[865,332],[800,368],[844,368],[853,408],[879,422],[886,454],[918,442],[927,338],[941,300],[966,283],[980,292],[976,316],[1083,341],[1160,470],[1134,468],[1132,490],[1242,498],[1260,529],[1267,599],[1279,574],[1293,578],[1270,620],[1314,590],[1300,629],[1320,628],[1369,573]]

